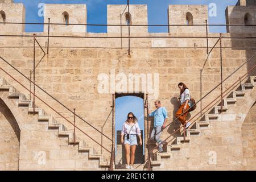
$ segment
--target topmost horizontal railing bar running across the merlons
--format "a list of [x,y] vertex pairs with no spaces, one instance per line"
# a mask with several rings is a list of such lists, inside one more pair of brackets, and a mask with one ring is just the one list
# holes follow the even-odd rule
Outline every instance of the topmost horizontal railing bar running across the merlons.
[[[0,22],[0,24],[36,24],[36,25],[64,25],[67,23],[34,23],[34,22]],[[91,24],[91,23],[68,23],[68,25],[80,25],[80,26],[120,26],[120,24]],[[122,24],[122,26],[129,26],[128,24]],[[236,26],[236,27],[255,27],[255,24],[130,24],[134,27],[171,27],[171,26]]]

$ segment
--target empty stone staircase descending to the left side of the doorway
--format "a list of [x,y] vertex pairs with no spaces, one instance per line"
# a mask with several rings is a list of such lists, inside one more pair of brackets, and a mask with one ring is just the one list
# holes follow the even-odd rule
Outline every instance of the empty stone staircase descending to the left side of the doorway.
[[[18,99],[18,106],[28,107],[28,114],[33,113],[33,102],[27,100],[26,96],[22,93],[19,93],[18,90],[14,88],[14,86],[9,85],[6,80],[0,77],[0,92],[9,92],[9,99]],[[38,114],[39,122],[48,122],[48,129],[56,129],[58,130],[59,137],[67,137],[69,144],[74,144],[73,140],[73,131],[67,130],[67,128],[56,121],[52,115],[47,114],[43,109],[39,107],[35,107],[35,113]],[[89,160],[90,159],[98,159],[99,167],[109,167],[109,162],[106,161],[105,157],[102,154],[97,154],[96,150],[88,146],[84,140],[76,137],[76,145],[78,145],[79,152],[88,152]]]

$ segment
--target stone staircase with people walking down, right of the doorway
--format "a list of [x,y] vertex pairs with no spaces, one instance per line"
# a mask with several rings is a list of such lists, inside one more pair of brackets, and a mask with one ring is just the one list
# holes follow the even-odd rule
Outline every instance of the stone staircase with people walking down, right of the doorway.
[[[229,97],[224,98],[224,106],[222,110],[225,112],[228,110],[229,105],[236,104],[238,102],[237,98],[243,98],[246,95],[246,89],[252,90],[254,88],[254,82],[256,81],[256,76],[251,76],[248,82],[242,83],[241,86],[236,91],[232,91]],[[180,150],[182,143],[189,143],[191,141],[191,135],[199,136],[201,130],[208,128],[210,125],[210,121],[216,121],[220,114],[221,106],[214,106],[212,109],[212,113],[205,114],[202,121],[196,121],[193,125],[189,126],[189,129],[185,130],[186,137],[184,141],[184,137],[176,137],[174,142],[170,145],[166,146],[166,152],[159,153],[157,152],[154,156],[154,159],[151,160],[151,166],[157,167],[162,164],[162,159],[171,158],[172,150]],[[182,135],[182,134],[181,134]]]

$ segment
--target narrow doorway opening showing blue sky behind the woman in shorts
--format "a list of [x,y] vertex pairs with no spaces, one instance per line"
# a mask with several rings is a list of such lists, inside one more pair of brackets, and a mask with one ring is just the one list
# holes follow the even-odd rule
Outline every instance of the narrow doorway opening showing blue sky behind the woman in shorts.
[[129,112],[133,112],[138,119],[143,143],[142,146],[137,146],[134,164],[144,163],[144,94],[115,94],[115,165],[117,168],[124,168],[126,164],[125,147],[121,143],[121,130]]

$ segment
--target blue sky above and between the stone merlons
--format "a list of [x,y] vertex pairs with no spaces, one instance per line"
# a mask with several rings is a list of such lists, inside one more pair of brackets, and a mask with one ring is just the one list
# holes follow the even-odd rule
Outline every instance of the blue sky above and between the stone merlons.
[[[130,0],[130,4],[145,4],[148,6],[148,24],[167,24],[168,5],[209,5],[216,3],[217,16],[209,17],[210,24],[225,24],[225,9],[235,5],[238,0]],[[38,16],[39,3],[83,3],[87,5],[89,24],[106,24],[107,5],[126,4],[127,0],[14,0],[26,6],[26,22],[43,23],[43,17]],[[52,22],[53,23],[53,22]],[[54,22],[56,23],[56,22]],[[59,23],[59,22],[58,22]],[[88,32],[106,32],[106,27],[88,27]],[[43,26],[27,25],[26,31],[40,32]],[[149,27],[149,32],[167,32],[167,27]],[[210,32],[226,32],[226,27],[210,27]]]

